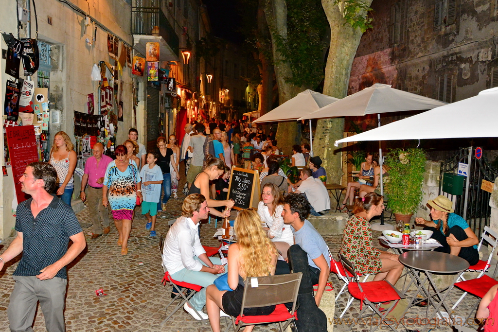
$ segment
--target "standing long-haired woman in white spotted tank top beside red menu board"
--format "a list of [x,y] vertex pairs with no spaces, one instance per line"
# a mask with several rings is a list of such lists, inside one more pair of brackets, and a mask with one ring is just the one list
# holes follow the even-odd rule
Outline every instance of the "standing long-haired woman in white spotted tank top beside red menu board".
[[50,164],[57,172],[57,196],[67,205],[71,206],[71,196],[74,190],[74,170],[76,168],[76,152],[71,138],[59,131],[54,136],[54,143],[50,150]]

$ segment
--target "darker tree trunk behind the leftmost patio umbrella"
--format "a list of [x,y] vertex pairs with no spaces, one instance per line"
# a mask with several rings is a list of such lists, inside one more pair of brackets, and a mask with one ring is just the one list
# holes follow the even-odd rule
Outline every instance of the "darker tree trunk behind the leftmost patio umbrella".
[[[273,62],[277,64],[274,69],[278,86],[278,104],[282,105],[307,88],[287,83],[286,78],[292,77],[292,70],[278,51],[274,40],[275,33],[282,36],[284,40],[287,38],[287,4],[285,0],[266,0],[264,13],[271,35]],[[297,121],[279,122],[276,140],[280,151],[292,154],[292,145],[301,143],[301,126]]]

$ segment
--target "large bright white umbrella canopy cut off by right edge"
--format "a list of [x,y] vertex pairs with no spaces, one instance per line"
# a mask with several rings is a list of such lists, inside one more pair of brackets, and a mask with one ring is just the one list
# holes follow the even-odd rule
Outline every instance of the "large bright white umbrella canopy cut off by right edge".
[[353,141],[498,137],[498,88],[381,127],[343,138]]

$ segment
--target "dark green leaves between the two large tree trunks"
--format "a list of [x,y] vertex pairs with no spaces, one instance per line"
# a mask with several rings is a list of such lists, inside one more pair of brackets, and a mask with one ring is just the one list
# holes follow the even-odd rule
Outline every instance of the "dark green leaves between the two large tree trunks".
[[[287,0],[287,37],[273,33],[275,46],[290,65],[285,81],[297,87],[316,87],[324,77],[323,41],[328,25],[320,0]],[[275,63],[278,66],[278,63]]]

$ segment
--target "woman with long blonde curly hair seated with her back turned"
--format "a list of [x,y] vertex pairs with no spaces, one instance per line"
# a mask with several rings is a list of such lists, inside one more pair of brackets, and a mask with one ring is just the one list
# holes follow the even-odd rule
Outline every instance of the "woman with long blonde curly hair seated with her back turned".
[[[215,285],[206,289],[206,309],[213,332],[220,332],[220,309],[237,317],[241,313],[244,280],[275,273],[277,249],[261,227],[253,210],[242,210],[234,224],[237,243],[228,249],[228,285],[233,291],[219,291]],[[246,308],[244,315],[269,315],[275,306]],[[245,332],[251,332],[248,326]]]

